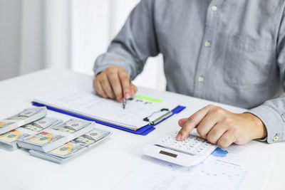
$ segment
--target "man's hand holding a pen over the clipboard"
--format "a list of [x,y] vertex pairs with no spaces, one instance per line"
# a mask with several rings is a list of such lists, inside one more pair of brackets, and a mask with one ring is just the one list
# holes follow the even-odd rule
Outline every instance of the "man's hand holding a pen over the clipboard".
[[135,85],[130,84],[128,73],[121,66],[110,67],[97,75],[93,88],[102,97],[116,98],[123,102],[123,97],[130,98],[137,92]]

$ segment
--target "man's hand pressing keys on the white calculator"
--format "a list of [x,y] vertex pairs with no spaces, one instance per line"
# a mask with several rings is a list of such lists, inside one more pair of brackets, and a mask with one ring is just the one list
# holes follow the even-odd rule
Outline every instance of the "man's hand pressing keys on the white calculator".
[[189,118],[179,120],[178,124],[182,129],[177,134],[177,140],[185,139],[197,127],[202,138],[221,148],[267,136],[266,127],[257,116],[250,113],[235,114],[214,105],[203,107]]

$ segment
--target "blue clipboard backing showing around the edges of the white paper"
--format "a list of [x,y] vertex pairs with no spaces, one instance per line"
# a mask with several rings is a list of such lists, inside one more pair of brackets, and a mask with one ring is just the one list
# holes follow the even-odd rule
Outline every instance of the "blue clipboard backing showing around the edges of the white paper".
[[152,132],[153,130],[155,130],[155,125],[159,124],[160,122],[163,122],[164,120],[166,120],[167,118],[171,117],[172,115],[175,115],[179,112],[181,112],[182,110],[185,109],[184,106],[181,106],[181,105],[178,105],[177,107],[175,107],[175,109],[172,110],[172,115],[170,115],[169,117],[166,117],[164,120],[161,120],[160,122],[157,122],[155,125],[145,125],[144,127],[140,127],[140,129],[138,130],[130,130],[130,129],[127,129],[127,128],[124,128],[124,127],[120,127],[120,126],[117,126],[117,125],[113,125],[113,124],[110,124],[108,122],[103,122],[103,121],[100,121],[100,120],[94,120],[90,117],[86,117],[86,116],[83,116],[83,115],[78,115],[78,114],[75,114],[73,112],[68,112],[66,110],[61,110],[61,109],[58,109],[56,107],[51,107],[49,105],[43,105],[43,104],[40,104],[38,102],[32,102],[33,105],[35,106],[38,106],[38,107],[42,107],[42,106],[46,106],[46,108],[48,108],[48,110],[53,110],[55,112],[60,112],[60,113],[63,113],[65,115],[70,115],[72,117],[78,117],[78,118],[81,118],[83,120],[88,120],[88,121],[93,121],[93,122],[97,122],[99,124],[102,124],[102,125],[107,125],[109,127],[113,127],[113,128],[116,128],[116,129],[119,129],[119,130],[124,130],[124,131],[127,131],[127,132],[132,132],[132,133],[135,133],[135,134],[140,134],[140,135],[147,135],[149,134],[150,132]]

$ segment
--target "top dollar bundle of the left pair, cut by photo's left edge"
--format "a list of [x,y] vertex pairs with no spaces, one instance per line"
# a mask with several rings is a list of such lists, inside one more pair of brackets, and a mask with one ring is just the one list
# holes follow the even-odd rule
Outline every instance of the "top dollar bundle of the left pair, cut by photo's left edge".
[[17,115],[9,117],[5,120],[0,120],[0,134],[4,134],[14,130],[22,125],[41,119],[46,116],[46,107],[31,107],[20,112]]

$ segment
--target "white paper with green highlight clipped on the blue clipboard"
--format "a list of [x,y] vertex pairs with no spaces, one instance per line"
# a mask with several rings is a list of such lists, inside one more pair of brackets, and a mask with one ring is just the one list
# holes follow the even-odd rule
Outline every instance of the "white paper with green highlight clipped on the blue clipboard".
[[[34,101],[134,130],[150,123],[143,120],[145,117],[157,118],[177,107],[177,103],[170,100],[135,95],[123,109],[122,103],[116,100],[99,97],[92,89],[73,86],[36,97]],[[162,109],[165,110],[161,111]]]

